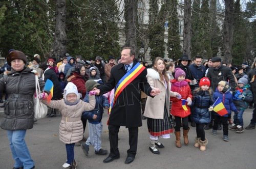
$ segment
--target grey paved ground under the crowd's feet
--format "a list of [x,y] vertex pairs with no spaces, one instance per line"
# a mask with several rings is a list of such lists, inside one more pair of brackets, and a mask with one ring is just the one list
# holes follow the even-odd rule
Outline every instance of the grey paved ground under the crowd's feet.
[[[252,109],[247,109],[244,114],[245,126],[249,124],[252,117]],[[0,112],[0,119],[3,112]],[[103,117],[102,148],[108,149],[108,128],[106,114]],[[35,161],[36,168],[62,168],[66,161],[65,144],[59,141],[58,125],[60,117],[40,119],[34,128],[27,131],[26,142]],[[111,163],[103,163],[107,155],[94,154],[93,147],[90,147],[89,156],[85,156],[80,147],[75,147],[75,159],[78,169],[81,168],[255,168],[256,166],[256,130],[245,130],[238,134],[229,130],[229,142],[222,140],[222,131],[218,135],[210,134],[206,130],[206,138],[209,140],[207,150],[200,152],[194,147],[196,128],[191,127],[189,131],[189,145],[181,149],[175,147],[175,135],[169,139],[161,139],[165,148],[160,149],[160,155],[155,155],[148,150],[149,138],[146,120],[139,128],[138,151],[135,161],[131,164],[124,164],[128,145],[128,131],[124,127],[119,132],[120,159]],[[87,129],[88,130],[88,129]],[[88,136],[88,131],[86,131]],[[182,139],[183,141],[183,139]],[[13,159],[9,149],[7,133],[0,129],[0,168],[12,168]]]

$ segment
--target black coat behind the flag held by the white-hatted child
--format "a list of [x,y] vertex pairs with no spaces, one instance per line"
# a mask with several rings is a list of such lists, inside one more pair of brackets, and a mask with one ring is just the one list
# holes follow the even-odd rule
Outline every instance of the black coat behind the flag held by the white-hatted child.
[[61,85],[57,74],[52,69],[47,69],[44,72],[44,81],[50,79],[53,82],[53,96],[52,100],[59,100],[62,98]]

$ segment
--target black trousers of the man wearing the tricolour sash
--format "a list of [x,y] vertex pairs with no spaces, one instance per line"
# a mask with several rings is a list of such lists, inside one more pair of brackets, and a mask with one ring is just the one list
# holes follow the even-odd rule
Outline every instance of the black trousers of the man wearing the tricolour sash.
[[[118,132],[120,126],[109,125],[109,138],[110,138],[110,157],[120,156],[118,150]],[[138,127],[128,128],[129,130],[129,145],[130,149],[127,150],[127,156],[135,157],[138,146]]]

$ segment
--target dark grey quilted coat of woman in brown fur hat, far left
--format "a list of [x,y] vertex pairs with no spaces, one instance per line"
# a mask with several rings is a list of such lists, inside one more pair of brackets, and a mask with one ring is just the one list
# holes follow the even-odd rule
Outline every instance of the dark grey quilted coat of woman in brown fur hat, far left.
[[[40,88],[45,82],[39,80]],[[0,79],[0,92],[6,90],[5,115],[1,121],[4,130],[26,130],[33,128],[35,74],[26,67],[22,72],[11,69]]]

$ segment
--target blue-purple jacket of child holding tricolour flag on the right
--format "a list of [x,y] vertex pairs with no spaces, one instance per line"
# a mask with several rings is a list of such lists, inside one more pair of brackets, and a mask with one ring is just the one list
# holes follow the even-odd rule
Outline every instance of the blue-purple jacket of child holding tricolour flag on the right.
[[[233,96],[229,90],[230,88],[225,93],[222,93],[218,90],[218,88],[216,88],[216,91],[214,92],[214,101],[216,101],[216,99],[220,97],[220,99],[222,100],[222,103],[224,104],[224,107],[228,111],[228,114],[224,115],[223,117],[228,117],[228,115],[231,115],[230,110],[234,112],[238,111],[237,107],[233,103]],[[214,112],[214,115],[220,116],[216,112]]]

